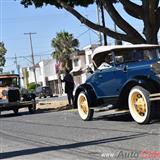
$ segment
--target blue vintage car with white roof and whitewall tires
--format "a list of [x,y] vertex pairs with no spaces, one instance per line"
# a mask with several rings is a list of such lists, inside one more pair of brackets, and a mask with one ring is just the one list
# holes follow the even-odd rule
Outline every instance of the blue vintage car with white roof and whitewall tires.
[[91,120],[95,107],[127,108],[139,124],[160,112],[160,46],[101,46],[92,60],[95,71],[75,92],[80,117]]

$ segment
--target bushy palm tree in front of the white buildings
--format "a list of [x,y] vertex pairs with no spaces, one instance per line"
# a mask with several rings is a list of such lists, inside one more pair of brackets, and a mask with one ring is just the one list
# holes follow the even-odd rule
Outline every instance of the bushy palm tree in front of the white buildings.
[[51,46],[55,49],[52,53],[58,63],[61,63],[62,69],[71,69],[70,54],[79,46],[79,41],[68,32],[59,32],[52,39]]

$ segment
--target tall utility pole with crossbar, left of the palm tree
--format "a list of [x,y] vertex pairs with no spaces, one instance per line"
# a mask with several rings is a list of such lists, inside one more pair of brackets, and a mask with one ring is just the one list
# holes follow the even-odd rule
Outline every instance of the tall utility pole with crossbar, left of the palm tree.
[[29,40],[30,40],[30,46],[31,46],[31,55],[32,55],[32,65],[33,65],[33,74],[34,74],[34,80],[35,80],[35,84],[37,86],[37,77],[36,77],[36,69],[35,69],[35,62],[34,62],[34,53],[33,53],[33,45],[32,45],[32,34],[36,34],[36,33],[24,33],[25,35],[29,35]]

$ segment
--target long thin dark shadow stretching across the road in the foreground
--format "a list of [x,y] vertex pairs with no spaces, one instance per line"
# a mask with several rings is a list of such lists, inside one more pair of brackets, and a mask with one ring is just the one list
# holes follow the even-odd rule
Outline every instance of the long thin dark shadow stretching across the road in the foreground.
[[[76,148],[82,148],[82,147],[93,146],[93,145],[125,141],[125,140],[140,138],[144,136],[147,136],[147,133],[138,133],[138,134],[132,134],[127,136],[119,136],[119,137],[91,140],[91,141],[85,141],[85,142],[76,142],[76,143],[63,144],[63,145],[57,145],[57,146],[47,146],[47,147],[15,150],[15,151],[0,153],[0,159],[20,157],[20,156],[26,156],[26,155],[32,155],[32,154],[44,153],[44,152],[50,152],[50,151],[53,152],[53,151],[61,151],[66,149],[76,149]],[[72,152],[72,151],[68,150],[68,152]]]

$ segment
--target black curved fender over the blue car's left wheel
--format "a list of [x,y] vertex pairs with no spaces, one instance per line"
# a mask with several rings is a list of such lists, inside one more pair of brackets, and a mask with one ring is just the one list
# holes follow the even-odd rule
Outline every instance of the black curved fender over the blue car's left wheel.
[[76,92],[75,92],[75,108],[77,108],[77,98],[78,98],[78,95],[81,93],[81,92],[85,92],[85,94],[87,95],[87,97],[90,99],[90,107],[94,107],[97,105],[97,97],[96,97],[96,94],[93,90],[93,88],[89,85],[89,84],[81,84],[77,89],[76,89]]

